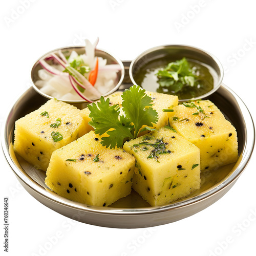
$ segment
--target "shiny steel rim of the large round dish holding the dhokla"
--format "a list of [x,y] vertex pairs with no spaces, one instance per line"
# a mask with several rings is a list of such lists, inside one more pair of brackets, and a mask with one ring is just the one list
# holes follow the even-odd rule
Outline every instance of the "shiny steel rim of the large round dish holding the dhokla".
[[[250,141],[249,141],[251,147],[249,147],[249,150],[247,150],[247,152],[245,152],[246,145],[244,146],[243,151],[241,152],[241,155],[240,155],[240,158],[242,158],[242,159],[240,160],[240,158],[239,158],[238,162],[236,163],[236,165],[237,164],[239,166],[241,165],[240,168],[237,168],[224,182],[222,182],[222,183],[219,182],[220,184],[218,184],[215,188],[213,188],[213,189],[209,188],[206,191],[203,191],[202,195],[199,194],[198,196],[195,196],[191,199],[182,200],[177,203],[174,202],[169,205],[155,206],[155,207],[141,207],[141,208],[107,207],[107,208],[103,208],[103,207],[98,207],[98,206],[91,206],[91,205],[88,206],[88,205],[84,205],[81,203],[77,203],[77,202],[71,201],[69,199],[62,198],[62,197],[58,196],[57,194],[54,195],[54,197],[53,197],[51,195],[51,193],[49,193],[44,187],[42,187],[41,185],[36,183],[31,177],[27,177],[28,175],[25,175],[26,173],[24,173],[23,170],[20,170],[18,168],[18,166],[15,165],[15,163],[13,162],[13,160],[10,156],[9,144],[8,144],[8,138],[7,138],[10,134],[7,135],[6,127],[8,124],[8,117],[11,114],[15,103],[14,103],[14,105],[12,105],[11,110],[7,114],[7,118],[5,119],[5,122],[2,124],[2,127],[1,127],[2,150],[4,152],[5,158],[9,164],[9,166],[12,168],[16,177],[18,177],[27,186],[29,186],[31,189],[33,189],[35,191],[35,193],[40,194],[47,200],[57,202],[58,204],[61,204],[62,206],[65,206],[65,207],[78,209],[78,210],[85,211],[85,212],[88,211],[88,212],[93,212],[93,213],[97,213],[97,214],[103,214],[103,215],[129,215],[130,216],[130,215],[142,215],[142,214],[156,214],[156,213],[160,213],[163,211],[170,211],[170,210],[174,210],[177,208],[185,207],[187,205],[192,205],[192,204],[198,203],[199,201],[206,200],[207,198],[209,198],[211,196],[214,196],[215,194],[219,193],[221,190],[223,190],[229,184],[236,182],[237,179],[239,178],[239,176],[243,173],[245,167],[247,166],[247,164],[251,158],[252,152],[253,152],[253,147],[254,147],[254,143],[255,143],[255,131],[254,131],[254,124],[253,124],[251,114],[250,114],[247,106],[244,104],[244,102],[241,100],[241,98],[236,93],[234,93],[231,89],[229,89],[223,83],[221,84],[221,87],[224,87],[226,90],[231,92],[232,96],[234,96],[237,101],[240,101],[240,102],[238,102],[240,108],[241,108],[241,104],[242,104],[243,108],[245,108],[247,110],[246,114],[250,117],[250,119],[249,119],[251,121],[250,126],[253,129],[253,133],[252,133]],[[29,91],[30,89],[31,88],[27,89],[22,94],[22,96],[24,94],[26,94],[26,92]],[[19,96],[18,99],[21,98],[22,96]],[[17,100],[15,102],[17,102]],[[6,138],[7,138],[7,140],[6,140]],[[246,140],[245,141],[246,141],[246,143],[248,142],[247,130],[246,130]],[[243,158],[244,153],[246,153],[246,154]],[[236,165],[233,168],[235,168]],[[38,187],[39,187],[39,190],[38,190]]]

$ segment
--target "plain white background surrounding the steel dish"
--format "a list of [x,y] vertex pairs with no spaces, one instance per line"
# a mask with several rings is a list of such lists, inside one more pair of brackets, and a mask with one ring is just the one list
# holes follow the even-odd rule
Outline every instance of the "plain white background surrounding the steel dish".
[[[98,47],[121,60],[131,60],[163,44],[186,44],[211,52],[225,66],[223,82],[242,98],[255,119],[253,4],[251,0],[4,1],[0,10],[0,118],[5,118],[14,100],[30,87],[30,68],[39,56],[58,47],[83,45],[83,38],[94,41],[99,36]],[[255,154],[237,183],[214,205],[151,229],[104,228],[63,217],[30,196],[17,182],[2,152],[0,157],[0,224],[3,200],[9,197],[9,255],[256,253]],[[254,218],[250,218],[252,212]],[[4,241],[4,229],[0,230],[0,241]]]

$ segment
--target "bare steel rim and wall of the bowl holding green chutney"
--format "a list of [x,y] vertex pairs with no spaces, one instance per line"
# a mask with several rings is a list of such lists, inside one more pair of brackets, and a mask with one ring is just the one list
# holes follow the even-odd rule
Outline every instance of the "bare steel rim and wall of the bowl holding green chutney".
[[[141,53],[138,57],[136,57],[130,66],[129,75],[133,82],[133,84],[137,84],[135,80],[135,75],[138,74],[148,62],[160,59],[160,58],[170,58],[172,57],[174,60],[182,59],[186,57],[190,60],[195,60],[201,62],[206,67],[210,68],[210,72],[212,77],[214,78],[214,88],[206,94],[200,95],[193,99],[203,99],[208,97],[210,94],[214,93],[221,86],[221,82],[223,79],[224,71],[221,65],[221,62],[212,54],[187,45],[163,45],[153,47]],[[141,84],[137,84],[141,86]],[[157,89],[157,88],[156,88]],[[155,89],[155,90],[156,90]],[[149,91],[152,91],[149,90]],[[188,101],[190,99],[180,99],[180,101]]]

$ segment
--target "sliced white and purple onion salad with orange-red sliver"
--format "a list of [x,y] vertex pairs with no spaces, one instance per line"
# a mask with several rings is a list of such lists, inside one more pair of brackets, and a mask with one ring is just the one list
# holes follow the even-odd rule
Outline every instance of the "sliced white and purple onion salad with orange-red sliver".
[[[72,51],[70,56],[59,50],[51,53],[39,63],[39,80],[35,82],[38,89],[49,96],[61,100],[76,101],[99,98],[115,87],[118,64],[106,64],[106,59],[95,56],[97,38],[94,44],[86,39],[84,54]],[[51,64],[49,64],[49,62]]]

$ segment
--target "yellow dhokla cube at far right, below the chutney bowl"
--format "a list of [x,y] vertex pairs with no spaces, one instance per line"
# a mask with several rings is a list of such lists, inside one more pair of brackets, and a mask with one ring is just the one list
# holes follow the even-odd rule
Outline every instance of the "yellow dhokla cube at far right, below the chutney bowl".
[[169,119],[174,129],[200,148],[201,170],[238,160],[236,129],[209,100],[183,103]]

